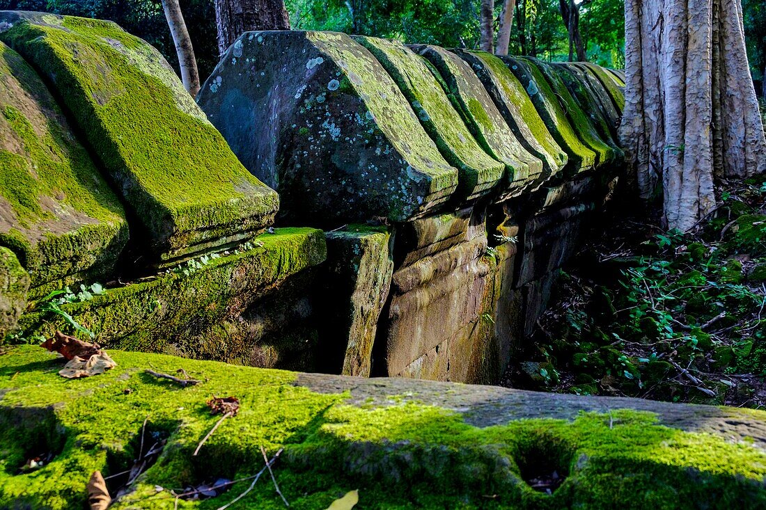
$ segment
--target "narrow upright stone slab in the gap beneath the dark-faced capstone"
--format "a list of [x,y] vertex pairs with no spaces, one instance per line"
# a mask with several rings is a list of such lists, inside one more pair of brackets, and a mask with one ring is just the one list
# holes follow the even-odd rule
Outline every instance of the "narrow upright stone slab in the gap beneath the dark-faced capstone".
[[317,302],[328,364],[320,371],[369,377],[378,317],[394,270],[393,238],[385,227],[349,225],[328,232],[326,240],[327,272]]

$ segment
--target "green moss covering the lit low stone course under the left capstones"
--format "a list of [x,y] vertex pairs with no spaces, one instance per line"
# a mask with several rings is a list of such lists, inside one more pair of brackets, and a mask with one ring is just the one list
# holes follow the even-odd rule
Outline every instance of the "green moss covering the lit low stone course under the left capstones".
[[[326,257],[321,230],[311,228],[277,229],[262,234],[254,244],[249,250],[198,263],[188,274],[171,270],[62,309],[103,345],[240,360],[244,354],[224,348],[226,337],[213,335],[214,326],[241,315],[268,290]],[[61,317],[41,312],[24,315],[18,327],[26,338],[47,338],[57,329],[69,328]]]

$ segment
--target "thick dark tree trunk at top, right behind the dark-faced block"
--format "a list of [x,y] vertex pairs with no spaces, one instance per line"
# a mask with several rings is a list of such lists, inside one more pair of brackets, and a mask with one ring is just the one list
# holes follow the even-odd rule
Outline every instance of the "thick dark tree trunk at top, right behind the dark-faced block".
[[215,0],[218,52],[251,30],[290,30],[284,0]]

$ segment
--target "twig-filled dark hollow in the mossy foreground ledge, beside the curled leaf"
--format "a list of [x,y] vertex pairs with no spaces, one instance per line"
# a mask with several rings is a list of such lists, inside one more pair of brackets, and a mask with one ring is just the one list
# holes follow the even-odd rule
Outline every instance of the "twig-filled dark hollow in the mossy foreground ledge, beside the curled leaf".
[[123,450],[111,450],[106,456],[108,475],[106,489],[113,499],[133,490],[133,484],[143,472],[152,467],[177,423],[151,423],[142,425]]

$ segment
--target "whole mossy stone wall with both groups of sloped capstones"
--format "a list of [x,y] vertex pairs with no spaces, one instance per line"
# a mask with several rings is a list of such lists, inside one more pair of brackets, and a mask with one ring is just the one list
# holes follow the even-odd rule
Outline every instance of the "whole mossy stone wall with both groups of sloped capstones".
[[251,32],[195,103],[109,22],[5,11],[0,41],[21,338],[100,281],[61,310],[113,348],[494,381],[623,158],[624,81],[591,64]]

